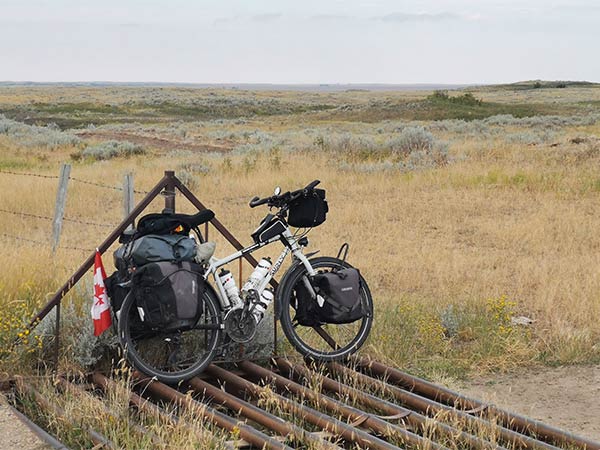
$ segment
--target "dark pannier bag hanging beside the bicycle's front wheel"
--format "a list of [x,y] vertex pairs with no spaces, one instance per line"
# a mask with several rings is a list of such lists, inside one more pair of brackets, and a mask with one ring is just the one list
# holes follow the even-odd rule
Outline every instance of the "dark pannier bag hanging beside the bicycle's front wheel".
[[347,268],[313,277],[317,293],[324,299],[316,313],[323,323],[343,324],[365,316],[360,299],[360,272]]

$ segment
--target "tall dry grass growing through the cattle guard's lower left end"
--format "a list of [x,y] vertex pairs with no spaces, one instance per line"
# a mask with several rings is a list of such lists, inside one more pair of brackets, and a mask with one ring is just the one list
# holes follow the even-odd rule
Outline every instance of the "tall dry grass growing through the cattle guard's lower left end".
[[[22,396],[21,409],[71,448],[94,446],[89,429],[122,449],[220,449],[226,448],[224,443],[229,439],[228,433],[187,411],[167,409],[165,415],[146,408],[134,414],[129,406],[132,386],[128,379],[120,380],[116,389],[105,395],[59,379],[27,383],[51,406],[46,407],[33,396]],[[179,415],[180,420],[169,420],[169,414]]]

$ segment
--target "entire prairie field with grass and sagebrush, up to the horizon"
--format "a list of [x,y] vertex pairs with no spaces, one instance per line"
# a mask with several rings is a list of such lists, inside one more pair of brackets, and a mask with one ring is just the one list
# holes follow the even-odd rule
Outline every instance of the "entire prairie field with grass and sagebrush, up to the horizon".
[[[253,196],[321,180],[330,212],[308,251],[335,255],[350,244],[349,261],[375,301],[362,352],[408,372],[444,381],[600,363],[597,85],[448,93],[1,86],[5,376],[40,366],[48,326],[23,346],[9,343],[122,218],[120,191],[71,180],[65,217],[95,224],[66,221],[52,255],[51,221],[25,214],[52,216],[57,180],[21,174],[57,176],[61,162],[72,164],[72,177],[108,186],[132,172],[140,191],[175,170],[243,244],[266,213],[248,207]],[[162,207],[159,198],[150,210]],[[218,254],[230,250],[217,239]],[[63,324],[61,360],[81,370],[99,359],[89,283],[65,300],[77,318]],[[533,322],[514,323],[520,316]]]

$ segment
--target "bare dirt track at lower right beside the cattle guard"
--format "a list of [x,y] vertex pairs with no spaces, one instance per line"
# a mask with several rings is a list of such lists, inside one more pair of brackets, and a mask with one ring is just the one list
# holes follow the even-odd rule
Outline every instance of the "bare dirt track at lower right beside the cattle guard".
[[478,379],[460,392],[600,441],[600,366],[543,368]]

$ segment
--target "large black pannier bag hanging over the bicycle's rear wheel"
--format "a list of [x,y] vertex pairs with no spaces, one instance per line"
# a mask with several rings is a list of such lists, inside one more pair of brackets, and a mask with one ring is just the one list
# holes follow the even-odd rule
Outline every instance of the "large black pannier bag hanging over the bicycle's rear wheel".
[[203,313],[205,281],[201,267],[190,262],[156,262],[139,267],[132,292],[140,319],[159,330],[190,329]]

